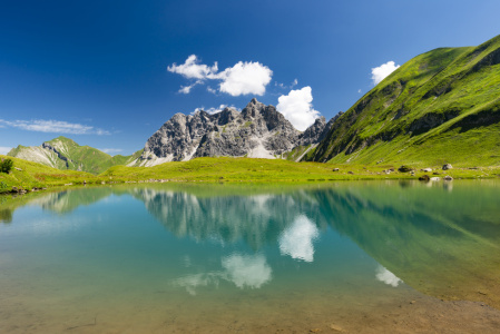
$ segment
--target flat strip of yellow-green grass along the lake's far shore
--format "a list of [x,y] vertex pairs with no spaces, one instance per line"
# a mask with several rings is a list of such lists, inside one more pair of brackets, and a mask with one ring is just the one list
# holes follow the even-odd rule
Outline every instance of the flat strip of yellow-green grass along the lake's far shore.
[[[11,157],[0,156],[0,158]],[[414,169],[414,174],[411,174],[398,171],[400,164],[364,166],[227,157],[196,158],[154,167],[115,166],[96,176],[85,171],[60,170],[19,158],[11,159],[13,160],[11,171],[0,174],[0,194],[126,183],[310,183],[419,179],[423,175],[440,177],[442,180],[447,175],[453,179],[500,176],[500,166],[478,167],[462,164],[449,170],[442,170],[442,166],[411,166]],[[432,168],[432,171],[422,171],[423,168]]]

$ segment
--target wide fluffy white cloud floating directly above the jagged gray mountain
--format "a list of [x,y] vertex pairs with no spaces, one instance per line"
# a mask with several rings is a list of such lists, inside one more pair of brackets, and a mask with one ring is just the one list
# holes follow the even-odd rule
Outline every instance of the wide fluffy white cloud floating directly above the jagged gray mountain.
[[[168,71],[182,75],[186,79],[196,79],[196,82],[183,86],[179,89],[182,94],[189,94],[196,85],[202,85],[205,80],[219,81],[218,90],[232,96],[241,95],[264,95],[266,86],[271,82],[273,71],[259,62],[238,61],[235,66],[218,71],[217,62],[214,66],[199,63],[195,55],[189,56],[183,65],[173,63]],[[215,89],[208,87],[208,91],[216,92]]]

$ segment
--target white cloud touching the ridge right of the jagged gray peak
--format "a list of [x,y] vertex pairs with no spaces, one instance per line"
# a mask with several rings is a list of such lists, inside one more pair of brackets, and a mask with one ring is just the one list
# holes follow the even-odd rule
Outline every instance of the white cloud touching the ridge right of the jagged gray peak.
[[276,109],[298,130],[305,130],[320,117],[320,111],[313,109],[311,87],[291,90],[277,99]]

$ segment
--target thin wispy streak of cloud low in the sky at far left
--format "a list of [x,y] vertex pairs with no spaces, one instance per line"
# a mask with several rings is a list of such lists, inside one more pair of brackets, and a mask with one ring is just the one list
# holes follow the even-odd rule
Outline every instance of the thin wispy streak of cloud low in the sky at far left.
[[63,120],[4,120],[0,119],[0,125],[11,128],[18,128],[27,131],[38,132],[57,132],[57,134],[72,134],[72,135],[109,135],[109,131],[98,129],[91,126],[81,124],[72,124]]

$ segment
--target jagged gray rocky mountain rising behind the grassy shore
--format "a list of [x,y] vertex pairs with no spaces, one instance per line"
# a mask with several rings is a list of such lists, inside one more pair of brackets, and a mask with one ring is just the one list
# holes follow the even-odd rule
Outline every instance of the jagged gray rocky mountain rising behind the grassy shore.
[[154,166],[215,156],[280,158],[298,145],[317,144],[329,125],[321,117],[301,132],[274,106],[256,99],[242,112],[226,108],[214,115],[203,110],[176,114],[147,140],[144,154],[130,165]]

